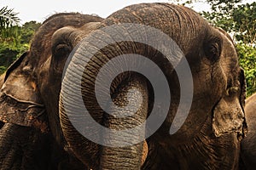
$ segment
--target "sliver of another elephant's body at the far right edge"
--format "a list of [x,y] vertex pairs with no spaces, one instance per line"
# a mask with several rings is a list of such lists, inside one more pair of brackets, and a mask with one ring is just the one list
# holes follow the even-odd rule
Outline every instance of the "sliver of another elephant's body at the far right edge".
[[245,112],[248,132],[241,140],[241,160],[244,169],[250,170],[256,167],[256,94],[246,100]]

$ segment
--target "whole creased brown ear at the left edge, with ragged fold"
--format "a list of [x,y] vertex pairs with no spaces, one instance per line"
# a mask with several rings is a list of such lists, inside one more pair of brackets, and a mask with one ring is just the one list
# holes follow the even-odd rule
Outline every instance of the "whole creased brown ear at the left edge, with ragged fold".
[[22,54],[6,71],[0,90],[0,121],[46,132],[45,109],[27,56],[28,52]]

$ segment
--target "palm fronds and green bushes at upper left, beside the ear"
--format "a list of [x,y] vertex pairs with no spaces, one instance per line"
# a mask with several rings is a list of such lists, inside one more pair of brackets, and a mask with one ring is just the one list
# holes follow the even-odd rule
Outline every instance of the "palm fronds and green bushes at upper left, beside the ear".
[[0,74],[26,52],[34,32],[41,26],[36,21],[20,26],[20,19],[14,9],[0,9]]

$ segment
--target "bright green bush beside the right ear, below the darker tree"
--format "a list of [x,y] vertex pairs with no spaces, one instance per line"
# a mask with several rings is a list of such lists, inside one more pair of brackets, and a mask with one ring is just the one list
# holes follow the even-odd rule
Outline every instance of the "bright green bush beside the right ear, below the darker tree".
[[244,44],[236,46],[241,67],[247,80],[247,96],[256,92],[256,48]]

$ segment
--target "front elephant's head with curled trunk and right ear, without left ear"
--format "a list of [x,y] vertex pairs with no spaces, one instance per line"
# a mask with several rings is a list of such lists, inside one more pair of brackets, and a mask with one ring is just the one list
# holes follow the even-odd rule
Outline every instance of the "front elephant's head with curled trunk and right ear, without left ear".
[[[131,30],[127,27],[124,28],[122,24],[127,23],[135,24],[131,26],[154,27],[164,32],[177,43],[189,63],[194,87],[191,108],[183,126],[172,135],[169,131],[178,105],[186,107],[186,103],[179,104],[181,87],[175,66],[168,63],[168,59],[163,53],[142,42],[132,42],[128,38],[125,41],[112,42],[111,40],[119,39],[119,37],[132,37],[136,31],[137,37],[143,38],[145,32],[148,32],[137,28]],[[119,30],[101,30],[115,25],[123,27]],[[91,31],[90,34],[85,33],[84,36],[84,30],[87,32],[88,27],[93,27],[94,31]],[[101,33],[99,34],[99,32]],[[111,35],[108,34],[109,32],[112,32]],[[224,31],[210,26],[206,20],[189,8],[168,3],[142,3],[120,9],[96,26],[84,26],[79,29],[63,28],[60,32],[55,33],[53,38],[55,43],[53,44],[58,45],[53,46],[53,52],[59,46],[65,47],[61,50],[61,54],[70,48],[67,42],[61,41],[61,37],[68,35],[73,35],[68,41],[72,47],[79,44],[78,48],[73,51],[73,56],[81,56],[79,58],[81,60],[69,60],[67,72],[64,73],[59,103],[61,128],[68,148],[85,165],[93,169],[236,168],[240,139],[244,135],[246,124],[243,111],[245,83],[234,43]],[[147,38],[160,41],[159,35],[150,34],[150,36],[154,37]],[[81,40],[81,37],[84,37],[84,41],[79,43],[78,40]],[[94,37],[95,42],[90,42],[90,37]],[[101,42],[105,42],[105,46],[99,48],[98,44]],[[108,44],[108,42],[111,43]],[[162,46],[165,47],[165,42]],[[96,53],[90,58],[91,49],[96,49]],[[120,55],[127,58],[122,58],[119,63],[123,61],[125,63],[123,65],[130,65],[129,54],[139,54],[153,60],[166,75],[172,94],[166,119],[152,136],[140,143],[125,147],[96,144],[91,139],[85,138],[81,132],[88,131],[87,134],[90,136],[103,138],[114,144],[127,139],[119,138],[115,134],[109,135],[101,128],[91,128],[90,122],[81,125],[83,126],[82,130],[78,131],[74,124],[79,124],[81,120],[86,122],[86,119],[83,119],[82,116],[83,111],[81,110],[83,109],[79,109],[81,105],[77,101],[78,94],[74,93],[77,87],[81,86],[80,92],[86,110],[102,127],[117,131],[136,127],[145,122],[152,111],[152,105],[154,105],[152,86],[147,78],[132,71],[119,74],[113,79],[110,87],[99,89],[111,95],[110,100],[102,101],[103,105],[107,105],[109,114],[102,109],[102,105],[99,105],[97,101],[96,77],[103,65]],[[60,59],[58,56],[57,51],[53,58]],[[180,59],[176,66],[178,67],[182,62],[183,59]],[[57,62],[52,59],[51,65],[55,65],[55,63]],[[123,66],[120,65],[120,67]],[[113,70],[116,67],[119,65],[113,65]],[[81,69],[79,70],[79,68]],[[83,72],[81,81],[73,81],[73,77],[78,76],[81,71]],[[60,71],[56,69],[56,72]],[[105,76],[108,77],[110,72],[107,72]],[[66,90],[63,90],[63,87]],[[129,94],[129,90],[135,90],[138,93]],[[113,101],[114,105],[125,107],[127,96],[131,102],[129,110],[119,111],[113,105],[109,105]],[[73,112],[70,112],[69,108],[72,108]],[[128,116],[127,119],[113,116],[129,114],[132,111],[137,112]],[[158,115],[162,114],[165,113],[162,112],[162,108],[159,108]],[[73,121],[70,116],[73,116]],[[140,130],[137,133],[121,135],[127,135],[128,139],[137,140],[143,138],[146,132],[146,129],[144,132],[142,132],[143,129]]]

